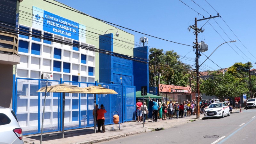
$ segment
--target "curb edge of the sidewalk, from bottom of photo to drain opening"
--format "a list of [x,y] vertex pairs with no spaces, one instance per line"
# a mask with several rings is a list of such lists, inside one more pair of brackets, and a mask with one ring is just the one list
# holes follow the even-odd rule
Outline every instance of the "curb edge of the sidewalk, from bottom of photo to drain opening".
[[[162,129],[162,128],[160,128],[160,129]],[[142,131],[119,134],[119,135],[100,138],[100,139],[96,139],[96,140],[86,140],[86,141],[82,141],[82,142],[76,142],[76,143],[73,143],[73,144],[92,144],[92,143],[97,143],[97,142],[102,142],[102,141],[107,141],[107,140],[118,139],[118,138],[126,137],[126,136],[129,136],[129,135],[135,135],[135,134],[140,134],[140,133],[144,133],[144,132],[153,132],[153,131],[155,131],[155,128],[149,128],[149,129],[142,130]]]

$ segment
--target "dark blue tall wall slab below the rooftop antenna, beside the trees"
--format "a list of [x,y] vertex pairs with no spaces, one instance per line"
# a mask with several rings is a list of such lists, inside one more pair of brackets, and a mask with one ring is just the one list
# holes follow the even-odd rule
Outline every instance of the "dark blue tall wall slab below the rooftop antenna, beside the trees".
[[[148,62],[148,46],[134,48],[133,56],[135,60]],[[141,86],[148,87],[148,63],[133,61],[133,76],[134,85],[136,86],[136,92],[141,91]],[[149,92],[149,89],[147,91]]]

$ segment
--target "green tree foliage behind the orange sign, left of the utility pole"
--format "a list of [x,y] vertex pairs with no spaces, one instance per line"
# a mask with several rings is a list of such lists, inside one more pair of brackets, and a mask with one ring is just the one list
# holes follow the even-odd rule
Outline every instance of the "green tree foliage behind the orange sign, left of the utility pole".
[[156,48],[151,48],[149,52],[151,53],[149,55],[149,81],[151,84],[154,84],[154,80],[156,80],[156,86],[158,86],[157,73],[160,73],[160,84],[189,85],[191,74],[188,73],[187,68],[190,66],[179,60],[180,55],[177,52],[172,50],[163,53],[162,49]]

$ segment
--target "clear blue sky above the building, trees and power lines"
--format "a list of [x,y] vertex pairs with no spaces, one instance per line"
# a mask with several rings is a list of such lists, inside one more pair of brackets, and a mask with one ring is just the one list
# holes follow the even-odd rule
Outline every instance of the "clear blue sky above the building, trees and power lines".
[[[57,0],[63,4],[73,7],[79,11],[89,14],[93,17],[106,20],[117,25],[130,28],[136,31],[144,32],[149,35],[167,39],[170,41],[192,45],[195,42],[195,35],[191,29],[188,32],[189,25],[195,23],[195,17],[202,19],[216,16],[217,12],[221,18],[214,20],[198,21],[197,26],[201,28],[204,25],[204,32],[198,35],[198,41],[204,41],[208,44],[208,51],[204,52],[209,56],[220,44],[237,40],[235,43],[221,45],[210,57],[211,60],[200,67],[200,71],[217,70],[228,68],[235,62],[246,63],[251,61],[256,63],[255,49],[255,6],[256,1],[223,1],[223,0],[206,0],[215,10],[205,2],[205,0],[182,0],[185,4],[193,8],[190,9],[179,0]],[[198,15],[199,12],[202,15]],[[215,21],[216,20],[216,21]],[[211,26],[212,25],[212,26]],[[225,34],[223,32],[227,34]],[[144,36],[133,31],[121,28],[135,36],[135,43],[139,42],[140,37]],[[215,30],[219,33],[217,33]],[[223,39],[221,38],[223,37]],[[164,51],[174,50],[180,57],[181,61],[195,66],[196,54],[190,46],[184,46],[167,42],[164,40],[148,37],[148,46],[163,49]],[[240,42],[239,40],[242,42]],[[192,50],[192,51],[191,51]],[[202,54],[199,65],[206,59]],[[255,66],[256,67],[256,66]],[[254,68],[255,68],[254,67]]]

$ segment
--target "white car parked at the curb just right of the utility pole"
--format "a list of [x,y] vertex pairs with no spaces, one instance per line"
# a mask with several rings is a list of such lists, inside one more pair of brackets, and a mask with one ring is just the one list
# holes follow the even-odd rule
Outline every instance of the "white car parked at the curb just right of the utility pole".
[[224,102],[212,103],[204,110],[204,118],[230,116],[229,106]]

